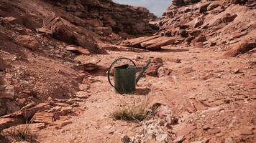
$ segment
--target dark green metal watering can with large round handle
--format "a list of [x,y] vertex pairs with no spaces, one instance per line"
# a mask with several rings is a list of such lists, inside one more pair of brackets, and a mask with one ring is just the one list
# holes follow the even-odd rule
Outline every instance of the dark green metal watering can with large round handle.
[[[116,59],[109,67],[108,79],[109,79],[109,84],[112,87],[114,87],[114,89],[116,89],[116,92],[118,92],[119,94],[129,94],[135,91],[137,82],[139,82],[144,71],[150,65],[150,59],[147,60],[147,64],[145,66],[136,66],[134,61],[132,61],[133,65],[124,64],[122,66],[115,66],[114,67],[114,85],[113,85],[110,80],[110,71],[114,66],[114,64],[116,64],[117,61],[120,61],[122,59],[127,59],[129,61],[132,61],[132,59],[128,59],[125,57]],[[136,69],[141,69],[137,77],[136,77]]]

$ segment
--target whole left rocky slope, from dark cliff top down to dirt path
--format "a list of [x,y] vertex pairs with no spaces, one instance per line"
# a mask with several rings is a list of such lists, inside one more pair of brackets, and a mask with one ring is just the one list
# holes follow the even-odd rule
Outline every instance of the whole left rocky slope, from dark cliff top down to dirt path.
[[[103,43],[152,34],[155,27],[149,21],[155,18],[143,7],[110,0],[1,0],[0,117],[13,112],[17,117],[2,117],[0,130],[32,118],[35,112],[27,117],[25,106],[79,97],[76,92],[89,88],[88,72],[99,67],[91,59],[81,63],[76,55],[107,54]],[[43,110],[50,109],[45,105]]]

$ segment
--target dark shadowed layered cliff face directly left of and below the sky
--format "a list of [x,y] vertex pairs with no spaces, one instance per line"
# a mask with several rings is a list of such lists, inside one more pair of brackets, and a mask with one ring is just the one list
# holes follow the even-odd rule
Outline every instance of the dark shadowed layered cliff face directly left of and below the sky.
[[[77,19],[73,21],[79,26],[107,27],[116,34],[127,33],[133,36],[152,34],[150,19],[155,19],[154,14],[144,7],[116,4],[111,0],[99,1],[47,1],[50,4],[68,11]],[[70,19],[65,14],[65,19]],[[79,19],[79,20],[78,20]]]

